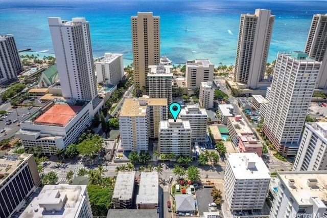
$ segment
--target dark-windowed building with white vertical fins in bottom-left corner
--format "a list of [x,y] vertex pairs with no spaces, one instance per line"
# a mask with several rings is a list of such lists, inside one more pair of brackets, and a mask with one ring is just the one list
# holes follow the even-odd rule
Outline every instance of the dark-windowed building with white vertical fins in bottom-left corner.
[[11,217],[26,204],[41,180],[31,154],[0,154],[0,217]]

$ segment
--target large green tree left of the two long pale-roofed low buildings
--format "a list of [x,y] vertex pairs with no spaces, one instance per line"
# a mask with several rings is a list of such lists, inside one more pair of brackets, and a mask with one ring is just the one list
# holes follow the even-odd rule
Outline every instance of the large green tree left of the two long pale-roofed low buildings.
[[88,185],[87,193],[94,216],[106,216],[111,207],[114,186]]

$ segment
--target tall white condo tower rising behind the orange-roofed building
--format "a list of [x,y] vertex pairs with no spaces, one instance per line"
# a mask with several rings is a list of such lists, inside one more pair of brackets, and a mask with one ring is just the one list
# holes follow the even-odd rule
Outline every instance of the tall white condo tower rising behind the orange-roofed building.
[[48,17],[59,72],[62,96],[92,100],[97,96],[89,23]]

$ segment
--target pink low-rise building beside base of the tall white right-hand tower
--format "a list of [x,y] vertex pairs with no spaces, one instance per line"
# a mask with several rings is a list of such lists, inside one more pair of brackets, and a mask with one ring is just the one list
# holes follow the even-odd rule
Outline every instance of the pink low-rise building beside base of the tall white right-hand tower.
[[254,135],[239,136],[238,148],[241,153],[256,153],[262,156],[263,145],[261,141],[256,140]]

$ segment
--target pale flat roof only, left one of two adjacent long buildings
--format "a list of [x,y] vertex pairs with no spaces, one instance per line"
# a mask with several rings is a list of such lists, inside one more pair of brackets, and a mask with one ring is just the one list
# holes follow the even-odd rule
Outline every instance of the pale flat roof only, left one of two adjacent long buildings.
[[112,198],[119,200],[133,199],[135,171],[118,172]]

